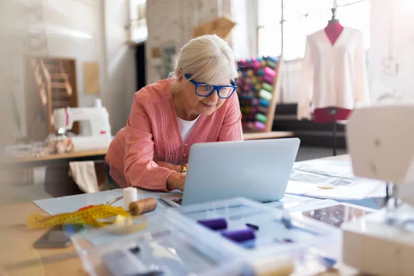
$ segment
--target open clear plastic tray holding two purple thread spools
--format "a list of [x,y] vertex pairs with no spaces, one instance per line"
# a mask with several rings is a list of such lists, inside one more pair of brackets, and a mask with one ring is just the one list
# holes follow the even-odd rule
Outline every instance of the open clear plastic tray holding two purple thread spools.
[[[339,242],[338,230],[331,226],[308,217],[290,217],[286,210],[269,208],[244,198],[182,206],[173,212],[202,224],[217,239],[232,242],[247,258]],[[211,228],[210,221],[217,219],[226,221],[226,228]]]

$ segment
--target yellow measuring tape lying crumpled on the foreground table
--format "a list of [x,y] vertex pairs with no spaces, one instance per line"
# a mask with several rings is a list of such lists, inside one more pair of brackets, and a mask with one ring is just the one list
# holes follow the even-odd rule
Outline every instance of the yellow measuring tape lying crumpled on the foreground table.
[[122,207],[114,207],[106,204],[92,206],[73,213],[62,213],[59,215],[29,215],[26,224],[30,228],[43,229],[60,224],[90,224],[95,227],[102,227],[112,224],[108,221],[99,221],[98,219],[106,219],[117,215],[130,219],[131,215]]

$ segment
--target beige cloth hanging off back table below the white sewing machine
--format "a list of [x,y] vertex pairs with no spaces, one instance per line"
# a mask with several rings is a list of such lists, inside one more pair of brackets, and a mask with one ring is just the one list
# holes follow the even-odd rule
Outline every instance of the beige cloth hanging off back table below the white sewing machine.
[[93,161],[69,162],[69,176],[84,193],[99,192],[98,177]]

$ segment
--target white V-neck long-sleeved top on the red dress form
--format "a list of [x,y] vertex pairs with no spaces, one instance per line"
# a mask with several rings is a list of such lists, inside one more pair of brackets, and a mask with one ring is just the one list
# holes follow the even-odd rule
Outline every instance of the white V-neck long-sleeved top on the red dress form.
[[362,32],[344,27],[333,45],[325,30],[309,34],[298,119],[311,119],[316,108],[335,106],[353,110],[369,102]]

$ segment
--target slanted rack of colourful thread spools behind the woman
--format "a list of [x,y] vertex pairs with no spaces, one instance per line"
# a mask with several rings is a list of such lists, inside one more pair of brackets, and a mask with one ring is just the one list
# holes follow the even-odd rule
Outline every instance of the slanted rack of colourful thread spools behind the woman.
[[282,57],[252,57],[237,61],[237,87],[244,132],[271,132],[280,94]]

